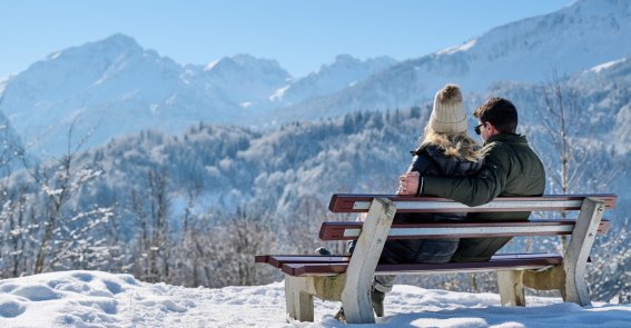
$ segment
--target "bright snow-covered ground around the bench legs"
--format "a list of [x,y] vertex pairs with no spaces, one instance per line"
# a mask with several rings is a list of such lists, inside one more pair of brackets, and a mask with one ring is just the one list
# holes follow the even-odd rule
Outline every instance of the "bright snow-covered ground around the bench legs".
[[[501,307],[494,294],[395,286],[384,327],[631,327],[631,305],[581,308],[553,298]],[[336,302],[315,322],[285,321],[283,284],[221,289],[146,284],[129,275],[66,271],[0,280],[0,327],[345,327]],[[362,327],[369,327],[362,326]]]

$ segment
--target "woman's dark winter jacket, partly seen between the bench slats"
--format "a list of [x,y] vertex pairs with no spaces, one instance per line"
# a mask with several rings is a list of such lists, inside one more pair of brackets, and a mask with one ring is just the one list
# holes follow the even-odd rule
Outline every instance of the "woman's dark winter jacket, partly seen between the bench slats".
[[[472,162],[455,156],[446,156],[436,146],[425,146],[414,151],[408,171],[423,177],[464,177],[475,173],[482,159]],[[464,220],[464,213],[397,213],[393,223],[414,223],[435,220]],[[459,239],[404,239],[388,240],[382,251],[382,264],[448,262],[457,249]]]

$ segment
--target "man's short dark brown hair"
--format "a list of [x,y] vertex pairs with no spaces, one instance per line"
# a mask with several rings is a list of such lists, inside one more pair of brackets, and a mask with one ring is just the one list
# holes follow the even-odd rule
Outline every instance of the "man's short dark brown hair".
[[515,133],[517,130],[517,109],[504,98],[489,98],[473,116],[483,123],[491,122],[500,133]]

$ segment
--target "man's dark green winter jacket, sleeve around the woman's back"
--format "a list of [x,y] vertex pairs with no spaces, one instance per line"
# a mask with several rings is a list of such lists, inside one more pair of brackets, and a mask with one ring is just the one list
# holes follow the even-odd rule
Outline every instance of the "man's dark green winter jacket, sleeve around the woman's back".
[[[421,195],[453,199],[480,206],[495,197],[541,196],[545,189],[543,163],[524,136],[500,133],[489,138],[483,148],[484,165],[477,175],[464,178],[424,177]],[[530,212],[471,213],[467,220],[528,220]],[[461,239],[453,261],[491,259],[510,237]]]

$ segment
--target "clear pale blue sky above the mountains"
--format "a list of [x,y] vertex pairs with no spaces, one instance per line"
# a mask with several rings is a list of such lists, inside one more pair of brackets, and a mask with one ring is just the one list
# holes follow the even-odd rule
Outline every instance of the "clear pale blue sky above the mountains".
[[0,77],[65,48],[134,37],[179,63],[236,53],[276,59],[295,77],[336,54],[398,60],[457,46],[572,0],[0,0]]

